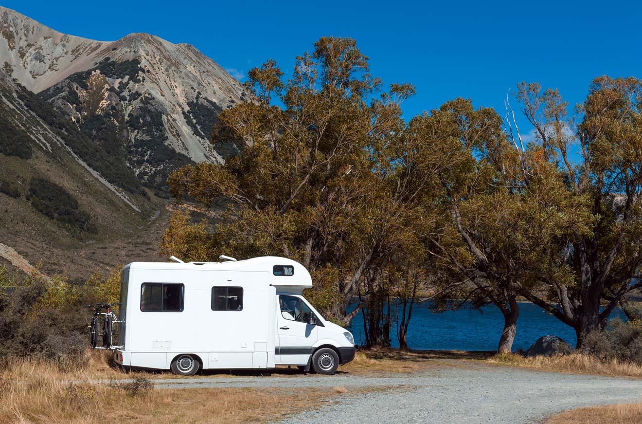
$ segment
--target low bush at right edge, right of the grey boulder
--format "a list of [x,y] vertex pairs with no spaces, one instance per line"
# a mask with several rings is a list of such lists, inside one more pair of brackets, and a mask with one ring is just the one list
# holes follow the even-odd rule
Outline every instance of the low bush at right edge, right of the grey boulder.
[[587,336],[582,350],[601,359],[642,364],[642,324],[614,319],[606,331],[593,331]]

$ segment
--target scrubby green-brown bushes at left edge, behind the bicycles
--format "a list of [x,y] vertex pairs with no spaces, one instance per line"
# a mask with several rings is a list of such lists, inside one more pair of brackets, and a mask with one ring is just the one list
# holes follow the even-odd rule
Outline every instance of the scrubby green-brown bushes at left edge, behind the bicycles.
[[15,358],[46,360],[65,372],[87,366],[91,310],[83,305],[113,302],[116,274],[74,285],[58,276],[10,274],[0,266],[0,368]]

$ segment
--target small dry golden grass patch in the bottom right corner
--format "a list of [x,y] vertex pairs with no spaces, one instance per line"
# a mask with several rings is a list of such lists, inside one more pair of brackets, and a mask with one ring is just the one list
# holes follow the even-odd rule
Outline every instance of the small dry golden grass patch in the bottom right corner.
[[549,418],[546,424],[639,424],[642,403],[622,403],[571,409]]

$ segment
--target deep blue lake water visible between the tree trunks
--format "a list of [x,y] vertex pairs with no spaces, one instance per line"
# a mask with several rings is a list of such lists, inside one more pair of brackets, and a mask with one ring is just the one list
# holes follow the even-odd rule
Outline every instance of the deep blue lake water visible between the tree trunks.
[[[625,320],[621,310],[616,309],[612,318]],[[455,311],[435,313],[426,303],[415,305],[408,326],[408,347],[433,350],[497,350],[504,326],[504,317],[496,306],[483,306],[481,310],[461,308]],[[356,344],[364,344],[363,315],[354,317],[348,328]],[[513,350],[528,349],[543,335],[553,334],[575,346],[575,330],[544,312],[532,303],[519,304],[519,319]],[[399,347],[397,323],[390,331],[392,346]]]

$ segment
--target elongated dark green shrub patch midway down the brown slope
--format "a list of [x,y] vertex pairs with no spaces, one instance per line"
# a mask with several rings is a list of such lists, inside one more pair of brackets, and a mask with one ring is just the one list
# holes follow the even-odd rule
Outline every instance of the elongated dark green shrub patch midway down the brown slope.
[[78,209],[78,200],[58,184],[42,178],[31,179],[27,200],[30,200],[35,209],[49,218],[89,233],[97,232],[96,225],[92,224],[90,216]]

